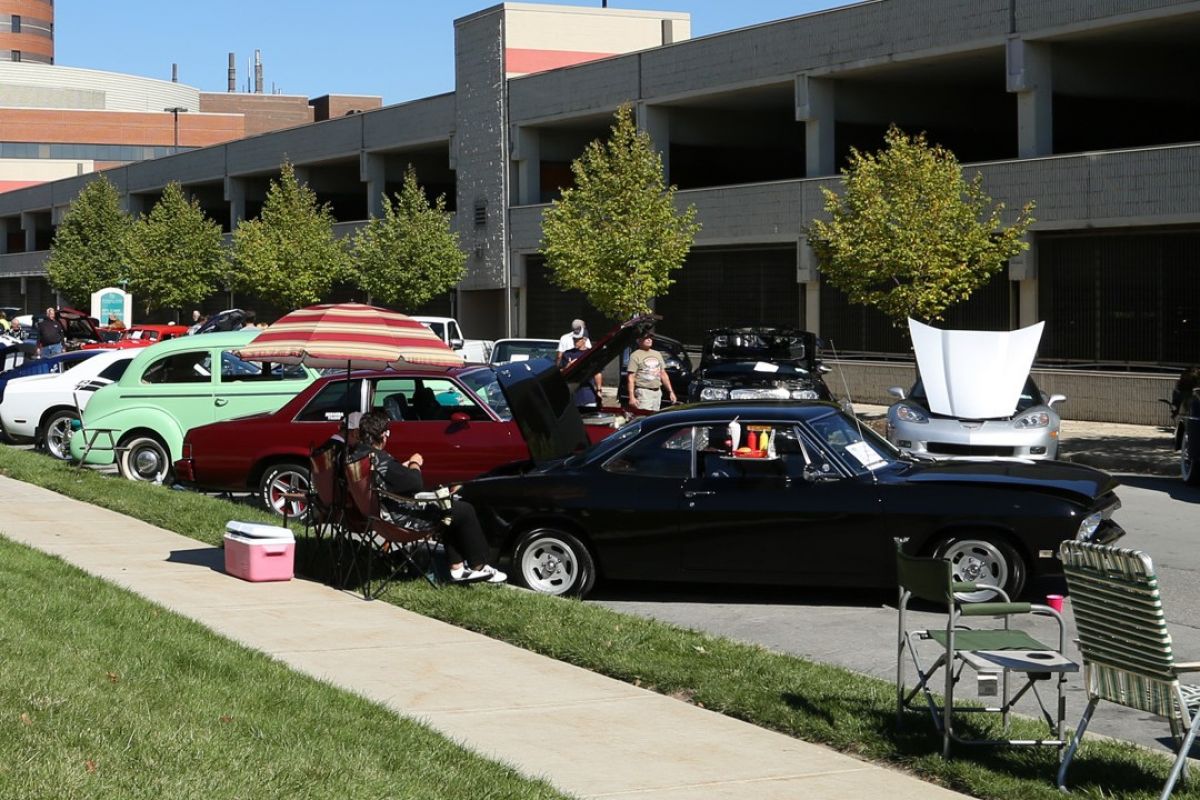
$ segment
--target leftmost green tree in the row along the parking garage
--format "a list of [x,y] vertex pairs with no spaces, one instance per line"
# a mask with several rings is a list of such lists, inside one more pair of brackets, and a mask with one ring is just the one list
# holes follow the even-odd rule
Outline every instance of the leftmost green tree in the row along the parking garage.
[[50,243],[46,273],[70,302],[84,305],[91,293],[125,277],[133,218],[108,178],[90,181],[62,217]]

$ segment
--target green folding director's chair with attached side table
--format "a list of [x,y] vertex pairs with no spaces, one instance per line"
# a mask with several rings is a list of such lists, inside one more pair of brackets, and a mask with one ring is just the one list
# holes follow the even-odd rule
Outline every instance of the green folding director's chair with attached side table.
[[[900,724],[906,709],[913,708],[917,694],[924,694],[934,724],[942,734],[942,756],[949,758],[950,742],[964,745],[1022,745],[1063,747],[1063,718],[1067,714],[1066,684],[1067,673],[1078,672],[1079,667],[1066,658],[1063,649],[1067,644],[1067,632],[1062,616],[1049,606],[1026,602],[1010,602],[1008,595],[998,587],[974,582],[956,582],[953,577],[953,565],[946,559],[917,558],[896,549],[896,577],[900,583],[899,633],[896,636],[896,724]],[[960,602],[956,593],[976,593],[990,589],[1000,599],[996,602],[966,603]],[[935,603],[946,613],[944,628],[907,630],[906,620],[908,602],[913,599]],[[1050,648],[1025,631],[1010,627],[1010,620],[1016,615],[1040,614],[1054,618],[1058,622],[1058,646]],[[1003,627],[973,630],[964,625],[964,620],[983,618],[1003,618]],[[937,658],[926,668],[920,661],[920,646],[930,654],[937,652]],[[934,646],[936,645],[936,646]],[[917,670],[918,681],[908,688],[905,685],[905,651]],[[998,705],[955,704],[955,687],[962,678],[962,672],[970,667],[978,675],[979,694],[994,696],[1000,688]],[[938,704],[931,690],[931,681],[937,670],[943,670],[942,700]],[[1010,692],[1009,675],[1021,674],[1025,682],[1015,693]],[[1054,678],[1056,675],[1056,678]],[[1038,681],[1056,681],[1057,704],[1051,714],[1038,692]],[[998,686],[997,686],[998,684]],[[1042,710],[1042,716],[1049,726],[1045,739],[971,739],[960,735],[954,728],[955,714],[1000,714],[1003,730],[1008,733],[1009,712],[1018,700],[1032,691]]]

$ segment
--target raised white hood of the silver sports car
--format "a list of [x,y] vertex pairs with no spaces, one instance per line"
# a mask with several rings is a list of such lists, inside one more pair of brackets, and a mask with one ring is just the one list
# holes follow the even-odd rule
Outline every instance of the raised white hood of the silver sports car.
[[943,331],[908,320],[929,410],[965,420],[1012,416],[1044,323],[1018,331]]

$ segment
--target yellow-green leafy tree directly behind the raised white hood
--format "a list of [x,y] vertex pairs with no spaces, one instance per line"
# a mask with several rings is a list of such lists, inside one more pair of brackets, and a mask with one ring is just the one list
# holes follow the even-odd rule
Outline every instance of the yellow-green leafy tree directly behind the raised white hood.
[[1033,203],[1004,227],[1004,205],[992,205],[983,175],[962,178],[953,152],[895,126],[884,143],[878,154],[851,150],[840,194],[821,190],[829,219],[812,221],[809,243],[851,302],[896,325],[941,319],[1028,247]]

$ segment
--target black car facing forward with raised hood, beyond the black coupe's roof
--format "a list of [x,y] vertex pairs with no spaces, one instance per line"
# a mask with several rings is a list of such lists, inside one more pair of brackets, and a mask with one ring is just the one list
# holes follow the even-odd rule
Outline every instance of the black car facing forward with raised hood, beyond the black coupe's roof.
[[688,398],[833,399],[821,378],[816,335],[794,327],[708,331]]

